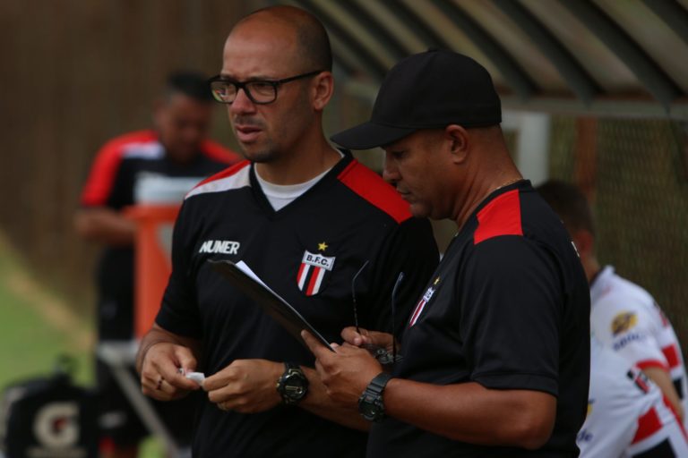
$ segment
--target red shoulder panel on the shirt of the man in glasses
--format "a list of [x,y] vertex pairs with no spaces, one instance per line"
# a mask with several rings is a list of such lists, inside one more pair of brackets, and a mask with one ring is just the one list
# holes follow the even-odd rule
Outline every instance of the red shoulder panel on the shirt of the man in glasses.
[[362,165],[357,160],[351,161],[338,176],[340,182],[363,199],[380,208],[397,223],[411,217],[409,202],[401,199],[399,193],[380,175]]

